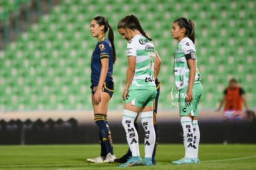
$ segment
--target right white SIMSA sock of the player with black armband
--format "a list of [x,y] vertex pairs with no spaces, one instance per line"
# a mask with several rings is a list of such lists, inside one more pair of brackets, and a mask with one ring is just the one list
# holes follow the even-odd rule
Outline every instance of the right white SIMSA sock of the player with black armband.
[[198,158],[198,145],[199,145],[199,141],[200,141],[200,130],[198,127],[198,122],[197,120],[193,120],[192,121],[192,127],[194,130],[194,141],[193,141],[193,147],[194,147],[194,151],[193,151],[193,158]]

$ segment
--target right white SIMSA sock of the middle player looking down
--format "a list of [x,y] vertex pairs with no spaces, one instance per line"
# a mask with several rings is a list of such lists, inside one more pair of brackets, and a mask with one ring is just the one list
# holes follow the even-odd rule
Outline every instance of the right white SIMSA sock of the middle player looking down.
[[155,129],[153,125],[153,111],[142,112],[140,114],[140,120],[145,130],[145,158],[151,159],[156,140]]

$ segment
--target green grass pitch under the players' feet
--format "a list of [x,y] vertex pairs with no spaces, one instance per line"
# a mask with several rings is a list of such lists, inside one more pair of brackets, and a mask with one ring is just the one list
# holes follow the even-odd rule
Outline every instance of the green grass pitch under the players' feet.
[[[126,144],[115,144],[117,158],[127,151]],[[117,163],[87,163],[87,158],[99,156],[100,145],[2,145],[0,169],[116,169]],[[144,156],[143,145],[140,153]],[[181,144],[160,144],[156,152],[156,166],[136,166],[130,169],[256,169],[256,145],[201,144],[199,164],[174,165],[184,156]]]

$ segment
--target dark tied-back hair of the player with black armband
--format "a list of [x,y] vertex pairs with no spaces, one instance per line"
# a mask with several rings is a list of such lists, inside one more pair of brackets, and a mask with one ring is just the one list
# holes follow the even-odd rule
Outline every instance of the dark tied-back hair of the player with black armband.
[[179,18],[174,20],[179,24],[179,27],[186,29],[186,36],[195,43],[195,23],[186,18]]

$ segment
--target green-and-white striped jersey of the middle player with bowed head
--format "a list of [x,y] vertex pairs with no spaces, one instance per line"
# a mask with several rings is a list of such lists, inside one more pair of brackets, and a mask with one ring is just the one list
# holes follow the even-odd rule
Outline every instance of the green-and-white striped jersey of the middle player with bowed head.
[[155,46],[143,35],[135,35],[127,43],[127,56],[136,57],[135,74],[130,88],[155,86]]

